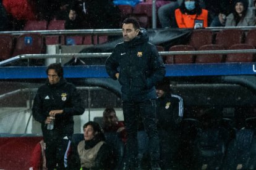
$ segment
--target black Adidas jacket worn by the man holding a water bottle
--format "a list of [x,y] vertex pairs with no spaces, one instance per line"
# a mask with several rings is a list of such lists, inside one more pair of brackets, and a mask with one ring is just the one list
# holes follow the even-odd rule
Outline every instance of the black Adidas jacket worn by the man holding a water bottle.
[[32,113],[36,121],[41,123],[43,134],[47,130],[45,120],[51,110],[63,110],[62,114],[55,116],[54,130],[60,136],[70,136],[74,132],[74,115],[82,115],[85,111],[83,100],[77,92],[74,84],[67,83],[61,78],[57,84],[49,84],[39,87],[33,102]]

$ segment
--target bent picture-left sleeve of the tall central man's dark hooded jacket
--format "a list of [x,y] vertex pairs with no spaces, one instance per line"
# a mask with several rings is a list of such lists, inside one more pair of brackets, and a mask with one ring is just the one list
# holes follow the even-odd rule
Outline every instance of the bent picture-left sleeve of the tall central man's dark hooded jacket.
[[119,54],[117,54],[117,46],[116,46],[112,54],[108,57],[108,59],[106,59],[106,65],[105,65],[106,71],[108,75],[113,79],[117,79],[116,73],[119,73],[119,71],[117,71],[117,67],[119,67],[119,62],[117,60],[118,57],[119,57]]

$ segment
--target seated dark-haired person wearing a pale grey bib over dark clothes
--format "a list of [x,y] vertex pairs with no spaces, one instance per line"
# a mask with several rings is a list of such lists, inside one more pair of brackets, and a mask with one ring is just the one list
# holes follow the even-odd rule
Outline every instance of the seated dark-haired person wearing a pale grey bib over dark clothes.
[[114,169],[116,160],[113,150],[106,144],[100,125],[88,121],[83,125],[83,135],[85,140],[79,142],[77,146],[81,168],[83,170]]

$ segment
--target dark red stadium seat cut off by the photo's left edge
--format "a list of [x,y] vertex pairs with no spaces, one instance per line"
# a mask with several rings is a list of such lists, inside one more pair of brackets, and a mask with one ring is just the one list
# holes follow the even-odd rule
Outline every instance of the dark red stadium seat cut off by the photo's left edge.
[[14,37],[11,34],[0,34],[0,60],[9,59],[14,49]]

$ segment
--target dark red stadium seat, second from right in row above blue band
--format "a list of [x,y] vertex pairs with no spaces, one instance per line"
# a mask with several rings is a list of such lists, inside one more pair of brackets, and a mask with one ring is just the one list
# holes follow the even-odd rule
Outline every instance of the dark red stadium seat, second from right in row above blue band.
[[[214,50],[224,50],[224,47],[216,44],[208,44],[198,49],[198,51],[214,51]],[[222,61],[223,61],[223,54],[198,54],[195,57],[195,63],[220,63]]]

